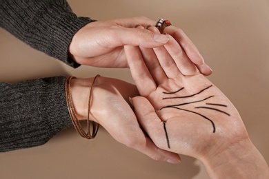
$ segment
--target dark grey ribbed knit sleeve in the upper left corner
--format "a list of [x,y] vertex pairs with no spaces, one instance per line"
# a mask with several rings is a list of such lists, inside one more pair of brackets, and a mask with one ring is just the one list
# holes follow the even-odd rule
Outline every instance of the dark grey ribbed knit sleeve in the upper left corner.
[[64,0],[0,0],[0,25],[32,48],[71,65],[68,47],[74,34],[94,21],[77,17]]

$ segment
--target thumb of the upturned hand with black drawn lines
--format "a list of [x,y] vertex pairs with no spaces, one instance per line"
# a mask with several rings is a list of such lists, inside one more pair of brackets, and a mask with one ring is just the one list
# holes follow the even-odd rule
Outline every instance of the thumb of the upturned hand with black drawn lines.
[[166,138],[166,131],[163,129],[163,121],[157,116],[154,107],[148,99],[137,96],[132,98],[135,107],[135,114],[139,124],[146,131],[153,143],[161,149],[170,150],[170,144]]

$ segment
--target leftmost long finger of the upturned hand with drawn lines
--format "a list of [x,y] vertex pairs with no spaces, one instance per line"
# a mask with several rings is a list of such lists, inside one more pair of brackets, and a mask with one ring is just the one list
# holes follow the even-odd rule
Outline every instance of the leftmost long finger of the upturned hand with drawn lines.
[[148,96],[148,94],[156,89],[157,85],[143,61],[139,47],[125,45],[124,51],[130,67],[132,78],[137,85],[139,94],[141,96]]

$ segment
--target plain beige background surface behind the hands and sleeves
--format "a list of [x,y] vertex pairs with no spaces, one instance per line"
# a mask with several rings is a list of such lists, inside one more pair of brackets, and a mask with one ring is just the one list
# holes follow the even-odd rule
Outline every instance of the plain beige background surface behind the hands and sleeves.
[[[214,73],[210,80],[239,110],[250,138],[269,163],[269,1],[69,1],[79,16],[169,19],[197,45]],[[132,82],[128,70],[67,65],[0,30],[0,81],[74,74]],[[0,178],[208,178],[201,162],[157,162],[117,143],[104,129],[95,140],[66,129],[46,145],[0,154]]]

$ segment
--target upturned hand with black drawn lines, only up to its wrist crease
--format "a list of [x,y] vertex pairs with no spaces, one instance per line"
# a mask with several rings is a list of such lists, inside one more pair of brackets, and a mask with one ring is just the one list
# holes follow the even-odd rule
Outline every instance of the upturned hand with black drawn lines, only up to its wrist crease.
[[198,70],[193,76],[183,76],[169,54],[159,56],[161,48],[125,47],[143,96],[132,99],[135,112],[155,145],[201,158],[248,138],[228,98]]

